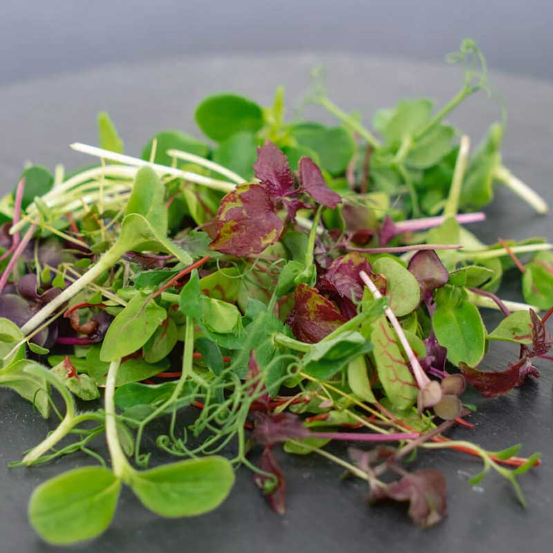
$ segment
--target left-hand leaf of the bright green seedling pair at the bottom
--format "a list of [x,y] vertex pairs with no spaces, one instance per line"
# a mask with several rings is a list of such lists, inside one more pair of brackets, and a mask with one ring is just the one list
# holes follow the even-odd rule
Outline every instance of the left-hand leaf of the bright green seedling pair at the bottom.
[[95,538],[111,523],[121,481],[103,467],[60,474],[32,492],[29,520],[37,534],[55,545]]

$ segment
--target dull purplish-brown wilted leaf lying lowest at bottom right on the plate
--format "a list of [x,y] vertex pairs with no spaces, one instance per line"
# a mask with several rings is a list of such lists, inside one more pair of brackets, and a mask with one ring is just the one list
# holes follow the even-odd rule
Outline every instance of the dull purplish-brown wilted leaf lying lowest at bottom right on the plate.
[[406,474],[386,488],[374,486],[369,500],[409,501],[409,516],[423,528],[439,523],[447,514],[447,487],[443,474],[424,469]]

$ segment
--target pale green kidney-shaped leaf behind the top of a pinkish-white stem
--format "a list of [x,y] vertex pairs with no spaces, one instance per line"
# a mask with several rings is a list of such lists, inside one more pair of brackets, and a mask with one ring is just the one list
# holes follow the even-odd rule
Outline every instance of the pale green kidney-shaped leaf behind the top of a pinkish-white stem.
[[396,317],[403,317],[418,306],[419,283],[401,263],[391,257],[381,257],[373,263],[373,271],[386,277],[386,295],[390,297],[390,307]]

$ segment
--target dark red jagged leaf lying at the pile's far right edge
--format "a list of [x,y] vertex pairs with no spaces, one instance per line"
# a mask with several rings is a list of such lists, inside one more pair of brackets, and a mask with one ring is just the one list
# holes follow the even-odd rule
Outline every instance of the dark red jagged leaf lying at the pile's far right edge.
[[538,370],[532,366],[532,360],[527,355],[516,362],[509,363],[505,371],[480,371],[465,363],[460,363],[459,368],[467,382],[480,390],[484,397],[503,395],[513,388],[522,386],[527,376],[532,375],[538,378],[540,375]]

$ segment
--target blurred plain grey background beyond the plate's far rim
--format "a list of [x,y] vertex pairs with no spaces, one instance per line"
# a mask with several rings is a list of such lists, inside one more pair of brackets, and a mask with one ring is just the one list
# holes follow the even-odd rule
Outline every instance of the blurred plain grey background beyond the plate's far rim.
[[184,54],[440,62],[465,36],[492,69],[551,80],[552,24],[551,0],[1,0],[0,85]]

